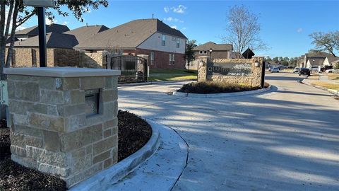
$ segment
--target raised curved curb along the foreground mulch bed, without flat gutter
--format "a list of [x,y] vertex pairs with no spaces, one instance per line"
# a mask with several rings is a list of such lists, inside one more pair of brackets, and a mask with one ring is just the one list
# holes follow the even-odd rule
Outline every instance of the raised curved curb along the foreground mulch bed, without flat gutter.
[[[150,123],[148,120],[146,121]],[[150,124],[150,126],[152,127],[152,136],[141,149],[119,163],[114,164],[112,167],[102,170],[87,180],[74,185],[69,190],[105,190],[107,185],[117,183],[141,163],[145,162],[157,151],[160,145],[159,129],[155,125]]]

